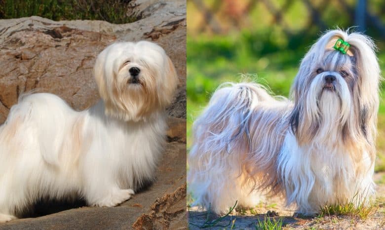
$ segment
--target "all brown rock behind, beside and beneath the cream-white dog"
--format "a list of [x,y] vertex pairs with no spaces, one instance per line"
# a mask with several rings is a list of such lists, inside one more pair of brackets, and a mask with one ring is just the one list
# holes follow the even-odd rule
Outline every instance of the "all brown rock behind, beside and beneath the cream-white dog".
[[80,207],[0,224],[0,229],[185,229],[186,205],[186,1],[133,0],[129,24],[51,21],[37,16],[0,20],[0,124],[25,92],[54,93],[76,110],[99,100],[92,69],[112,42],[151,40],[173,61],[179,79],[166,153],[157,180],[120,206]]

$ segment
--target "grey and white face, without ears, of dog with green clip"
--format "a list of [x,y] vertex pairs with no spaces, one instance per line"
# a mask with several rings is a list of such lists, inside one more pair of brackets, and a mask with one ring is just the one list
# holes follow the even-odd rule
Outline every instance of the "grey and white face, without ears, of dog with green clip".
[[358,93],[354,89],[357,87],[357,77],[354,60],[336,50],[325,51],[323,58],[310,68],[309,89],[304,94],[307,94],[308,115],[317,120],[316,125],[328,128],[326,126],[346,122],[352,97]]

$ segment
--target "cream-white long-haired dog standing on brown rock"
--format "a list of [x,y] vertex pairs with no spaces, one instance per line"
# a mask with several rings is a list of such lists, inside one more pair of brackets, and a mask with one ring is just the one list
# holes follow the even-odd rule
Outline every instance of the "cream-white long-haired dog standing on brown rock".
[[152,42],[114,43],[94,75],[102,100],[88,110],[48,93],[11,108],[0,126],[0,222],[40,198],[115,206],[154,180],[178,82],[171,60]]

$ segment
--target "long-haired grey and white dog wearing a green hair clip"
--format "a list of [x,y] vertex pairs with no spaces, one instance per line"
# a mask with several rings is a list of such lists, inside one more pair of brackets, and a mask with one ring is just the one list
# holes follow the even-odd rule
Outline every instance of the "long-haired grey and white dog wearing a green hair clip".
[[325,204],[373,197],[381,79],[375,49],[365,35],[327,32],[302,60],[291,100],[255,83],[222,85],[193,127],[188,181],[195,203],[224,213],[236,200],[254,206],[259,193],[281,194],[311,215]]

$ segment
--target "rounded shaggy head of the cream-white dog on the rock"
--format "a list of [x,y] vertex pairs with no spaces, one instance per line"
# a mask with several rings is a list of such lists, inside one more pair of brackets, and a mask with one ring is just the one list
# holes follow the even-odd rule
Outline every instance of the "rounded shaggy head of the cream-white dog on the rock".
[[170,58],[149,41],[108,46],[96,60],[95,78],[106,114],[125,121],[164,110],[178,82]]

